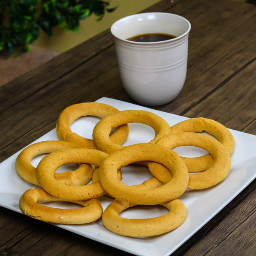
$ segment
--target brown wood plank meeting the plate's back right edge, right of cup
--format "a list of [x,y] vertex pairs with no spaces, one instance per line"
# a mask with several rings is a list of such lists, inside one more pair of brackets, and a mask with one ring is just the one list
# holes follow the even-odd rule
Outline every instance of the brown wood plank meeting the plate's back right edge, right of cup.
[[[187,111],[186,116],[204,116],[242,131],[256,118],[255,69],[256,61],[253,61]],[[250,133],[256,135],[256,130]]]

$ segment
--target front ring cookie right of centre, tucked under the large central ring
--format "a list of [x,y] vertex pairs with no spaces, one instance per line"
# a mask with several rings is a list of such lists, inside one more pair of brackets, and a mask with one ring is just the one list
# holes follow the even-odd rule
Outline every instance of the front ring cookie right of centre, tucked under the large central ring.
[[[143,182],[142,185],[137,185],[137,187],[154,189],[162,185],[163,183],[153,177]],[[108,230],[118,235],[140,237],[156,236],[172,231],[185,221],[187,211],[180,200],[174,199],[161,205],[168,208],[169,213],[155,218],[128,219],[120,217],[119,214],[135,205],[116,199],[103,212],[102,222]]]

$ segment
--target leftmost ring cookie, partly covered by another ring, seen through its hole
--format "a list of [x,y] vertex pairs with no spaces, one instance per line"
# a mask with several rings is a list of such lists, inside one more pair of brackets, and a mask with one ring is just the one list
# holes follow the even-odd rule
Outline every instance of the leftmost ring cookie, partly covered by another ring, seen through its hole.
[[[67,148],[79,148],[78,145],[60,141],[48,140],[34,143],[24,148],[18,155],[15,162],[15,169],[18,175],[32,184],[40,186],[36,177],[36,168],[32,166],[31,160],[40,155]],[[88,183],[93,175],[94,166],[81,164],[78,169],[70,172],[55,173],[54,177],[58,182],[73,186],[80,186]]]

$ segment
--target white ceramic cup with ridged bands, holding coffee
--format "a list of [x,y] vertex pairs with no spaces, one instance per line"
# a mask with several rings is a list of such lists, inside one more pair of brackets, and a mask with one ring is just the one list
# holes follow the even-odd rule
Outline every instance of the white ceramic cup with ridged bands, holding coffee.
[[[113,23],[111,33],[122,84],[135,101],[163,105],[180,93],[186,79],[190,28],[184,17],[164,12],[131,15]],[[127,40],[148,33],[176,38],[149,43]]]

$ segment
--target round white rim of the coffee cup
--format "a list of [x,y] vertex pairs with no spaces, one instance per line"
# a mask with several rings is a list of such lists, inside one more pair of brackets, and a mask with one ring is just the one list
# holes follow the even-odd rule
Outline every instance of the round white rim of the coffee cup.
[[[172,39],[168,39],[168,40],[165,40],[165,41],[156,41],[156,42],[136,42],[136,41],[130,41],[130,40],[127,40],[127,39],[124,39],[124,38],[121,38],[117,35],[115,35],[115,33],[113,32],[113,27],[116,25],[116,23],[119,23],[123,20],[126,20],[126,19],[129,19],[131,17],[135,17],[135,16],[140,16],[140,15],[148,15],[148,14],[157,14],[157,15],[172,15],[172,16],[176,16],[176,17],[180,17],[181,19],[183,19],[184,21],[186,21],[186,23],[188,24],[188,29],[186,30],[186,32],[184,32],[182,35],[179,35],[177,36],[176,38],[172,38]],[[172,42],[172,41],[177,41],[179,40],[180,38],[183,38],[184,36],[188,35],[189,34],[189,31],[191,29],[191,24],[189,22],[189,20],[187,20],[186,18],[184,18],[183,16],[180,16],[180,15],[177,15],[177,14],[174,14],[174,13],[170,13],[170,12],[143,12],[143,13],[137,13],[137,14],[133,14],[133,15],[128,15],[126,17],[122,17],[121,19],[119,20],[116,20],[111,28],[110,28],[110,31],[111,31],[111,34],[115,37],[115,38],[118,38],[119,40],[121,41],[124,41],[124,42],[128,42],[129,44],[138,44],[138,45],[152,45],[152,44],[163,44],[163,43],[168,43],[168,42]]]

